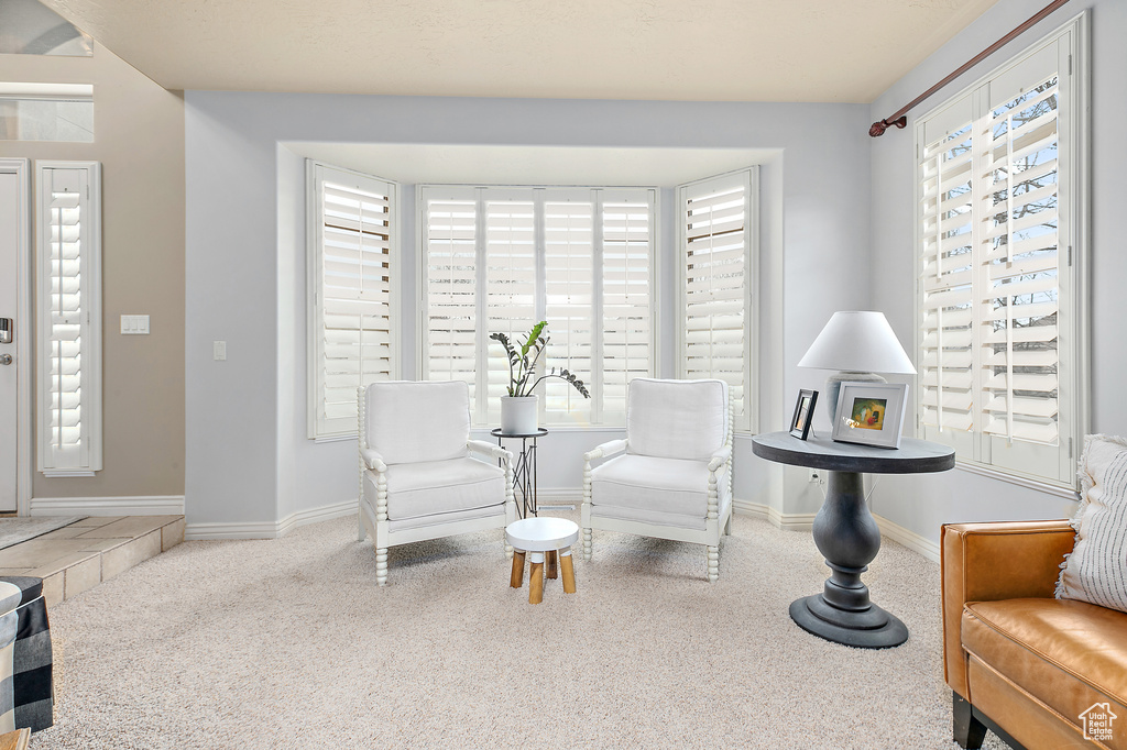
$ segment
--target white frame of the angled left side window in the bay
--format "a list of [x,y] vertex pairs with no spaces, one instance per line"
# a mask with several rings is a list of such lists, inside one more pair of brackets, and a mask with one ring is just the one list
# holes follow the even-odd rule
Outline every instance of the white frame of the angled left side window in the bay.
[[[348,180],[356,184],[356,189],[367,182],[387,186],[389,190],[388,211],[388,264],[389,264],[389,301],[388,301],[388,327],[390,339],[390,380],[399,380],[401,373],[401,345],[400,345],[400,284],[402,274],[400,268],[400,194],[402,186],[394,180],[389,180],[374,175],[366,175],[356,170],[344,169],[327,164],[313,159],[305,160],[305,360],[307,360],[307,436],[316,443],[335,443],[338,440],[349,440],[357,436],[356,418],[348,419],[347,427],[341,429],[329,429],[328,425],[322,425],[320,417],[321,400],[321,346],[323,339],[318,334],[321,330],[323,315],[323,278],[322,278],[322,252],[323,252],[323,190],[322,185],[326,177],[336,177],[338,180]],[[331,179],[330,179],[331,181]],[[375,191],[375,190],[372,190]],[[363,373],[361,374],[363,377]],[[357,382],[357,387],[361,383]]]

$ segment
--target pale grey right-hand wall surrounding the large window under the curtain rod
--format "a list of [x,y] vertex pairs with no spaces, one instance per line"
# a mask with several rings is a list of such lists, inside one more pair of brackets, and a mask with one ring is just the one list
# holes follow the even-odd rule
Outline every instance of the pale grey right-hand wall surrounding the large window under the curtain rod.
[[[978,20],[896,82],[871,107],[870,120],[889,116],[964,62],[975,56],[1044,7],[1044,0],[1001,0]],[[1127,347],[1115,329],[1127,316],[1121,293],[1127,253],[1119,226],[1127,202],[1119,146],[1127,122],[1127,2],[1074,0],[1002,51],[979,63],[908,115],[906,130],[889,130],[872,139],[872,233],[875,286],[872,300],[905,343],[913,340],[914,206],[913,122],[962,90],[1081,10],[1091,12],[1092,80],[1092,430],[1127,434],[1127,400],[1117,398],[1127,372]],[[1101,151],[1102,150],[1102,151]],[[942,475],[882,479],[873,493],[873,511],[933,542],[950,521],[1061,518],[1075,503],[1010,482],[956,468]]]

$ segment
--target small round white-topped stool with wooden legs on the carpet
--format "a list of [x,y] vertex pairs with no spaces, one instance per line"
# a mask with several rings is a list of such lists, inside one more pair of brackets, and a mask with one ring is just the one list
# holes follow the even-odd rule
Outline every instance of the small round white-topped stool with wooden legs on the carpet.
[[514,548],[513,575],[508,582],[514,589],[524,583],[524,555],[531,553],[529,604],[540,604],[544,599],[545,563],[548,578],[557,577],[558,565],[564,571],[564,592],[575,593],[571,545],[579,541],[579,526],[575,521],[565,518],[522,518],[505,527],[505,537]]

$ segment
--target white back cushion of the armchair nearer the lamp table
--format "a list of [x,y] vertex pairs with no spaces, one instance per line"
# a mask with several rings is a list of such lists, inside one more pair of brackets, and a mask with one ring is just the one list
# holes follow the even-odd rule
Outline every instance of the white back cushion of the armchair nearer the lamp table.
[[727,440],[727,427],[728,384],[724,381],[630,381],[630,453],[708,461]]

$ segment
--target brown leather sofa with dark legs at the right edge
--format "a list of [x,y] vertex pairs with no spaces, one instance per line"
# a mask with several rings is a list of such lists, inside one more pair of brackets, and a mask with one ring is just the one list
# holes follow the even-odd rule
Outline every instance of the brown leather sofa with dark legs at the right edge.
[[[959,745],[980,747],[990,729],[1014,748],[1127,750],[1127,614],[1054,598],[1074,541],[1065,520],[943,527],[943,672]],[[1092,741],[1082,714],[1097,704],[1111,736]]]

